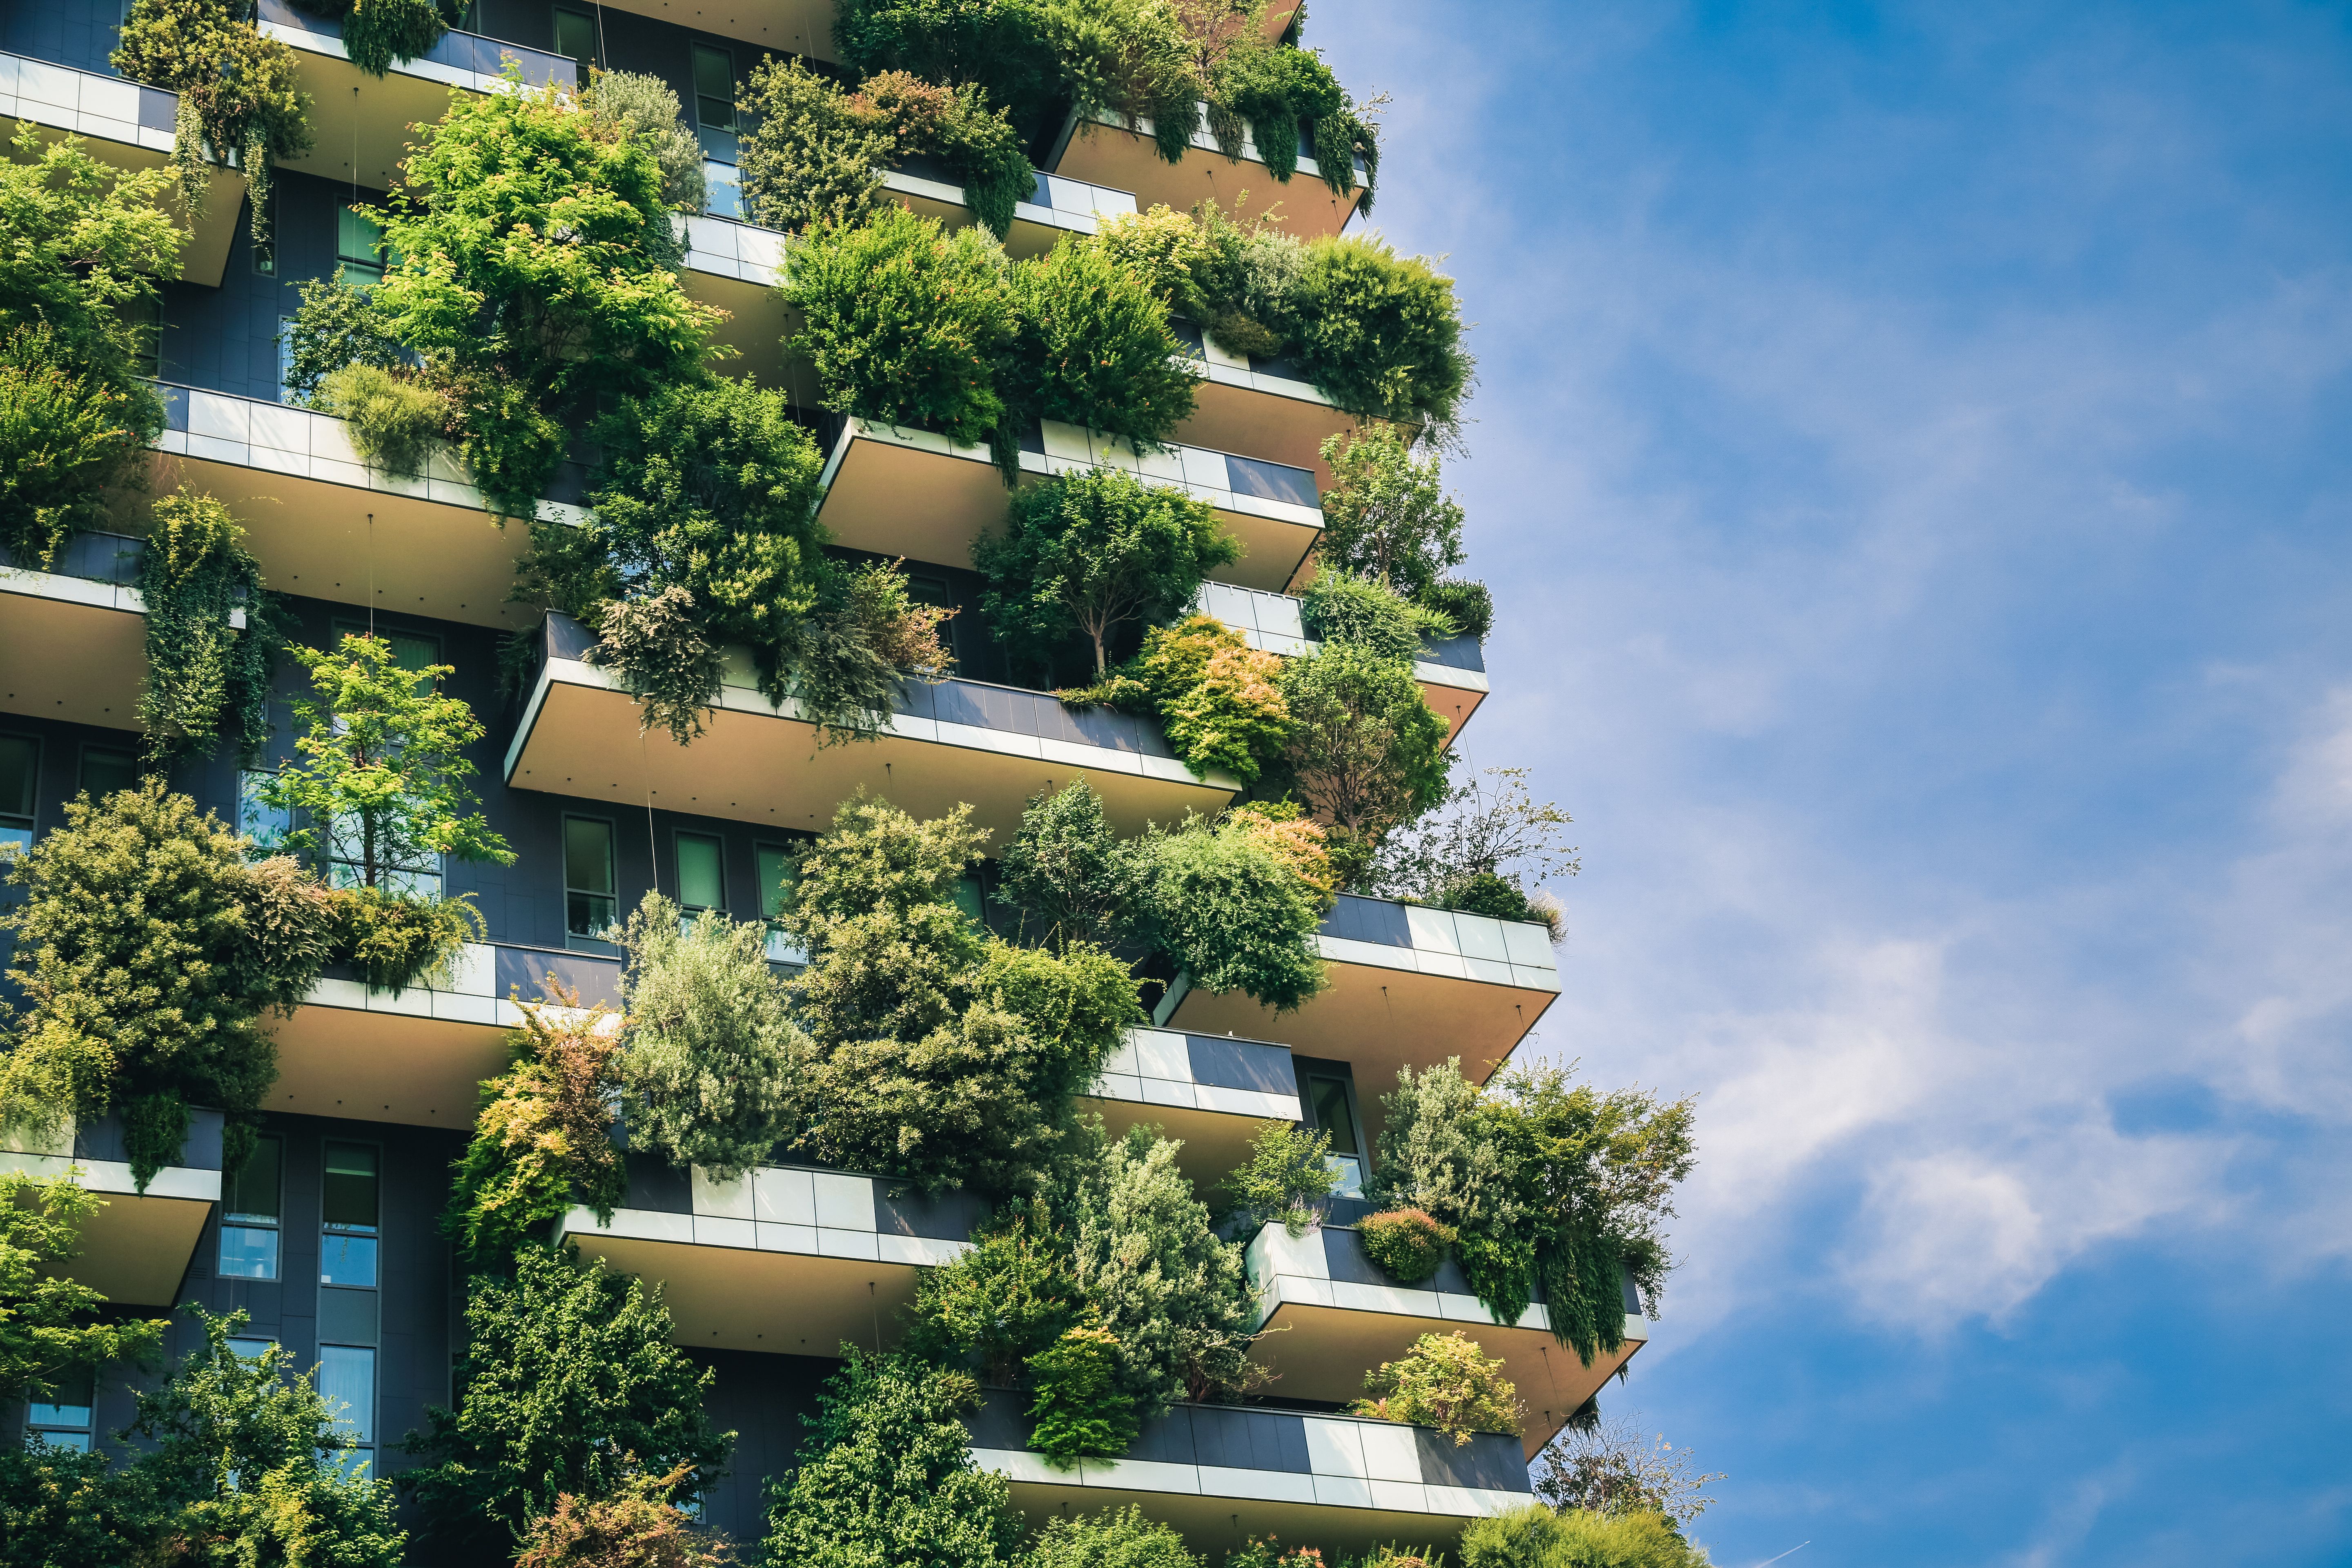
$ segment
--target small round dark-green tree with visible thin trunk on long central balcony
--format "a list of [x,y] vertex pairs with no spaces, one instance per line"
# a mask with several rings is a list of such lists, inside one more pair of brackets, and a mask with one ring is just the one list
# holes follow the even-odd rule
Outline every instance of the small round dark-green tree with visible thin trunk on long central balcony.
[[1004,534],[983,534],[971,559],[988,578],[981,611],[1011,656],[1049,670],[1084,637],[1101,679],[1122,628],[1181,616],[1242,545],[1207,501],[1117,468],[1077,468],[1016,491]]

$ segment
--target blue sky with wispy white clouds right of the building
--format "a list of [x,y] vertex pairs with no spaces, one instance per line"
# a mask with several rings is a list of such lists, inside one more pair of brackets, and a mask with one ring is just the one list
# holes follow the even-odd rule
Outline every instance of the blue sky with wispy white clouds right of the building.
[[1317,0],[1717,1563],[2352,1561],[2352,12]]

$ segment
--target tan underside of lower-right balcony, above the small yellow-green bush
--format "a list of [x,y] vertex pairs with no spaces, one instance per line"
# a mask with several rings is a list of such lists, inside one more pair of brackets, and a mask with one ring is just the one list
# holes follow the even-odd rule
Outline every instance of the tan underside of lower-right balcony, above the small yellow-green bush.
[[1529,1309],[1536,1326],[1522,1321],[1522,1326],[1505,1328],[1484,1307],[1475,1302],[1463,1307],[1468,1298],[1439,1298],[1435,1291],[1378,1291],[1374,1286],[1352,1286],[1352,1291],[1390,1295],[1402,1309],[1378,1312],[1284,1300],[1265,1319],[1270,1338],[1258,1340],[1251,1352],[1254,1361],[1272,1366],[1282,1375],[1272,1385],[1275,1394],[1284,1399],[1359,1399],[1364,1373],[1383,1361],[1402,1359],[1425,1333],[1461,1331],[1477,1340],[1489,1356],[1501,1356],[1505,1375],[1517,1385],[1529,1415],[1522,1432],[1526,1458],[1536,1458],[1536,1450],[1559,1432],[1569,1415],[1632,1361],[1649,1333],[1642,1319],[1628,1316],[1625,1331],[1639,1331],[1644,1338],[1628,1338],[1616,1352],[1595,1356],[1592,1366],[1585,1366],[1573,1349],[1552,1338],[1548,1326],[1541,1326],[1541,1307]]

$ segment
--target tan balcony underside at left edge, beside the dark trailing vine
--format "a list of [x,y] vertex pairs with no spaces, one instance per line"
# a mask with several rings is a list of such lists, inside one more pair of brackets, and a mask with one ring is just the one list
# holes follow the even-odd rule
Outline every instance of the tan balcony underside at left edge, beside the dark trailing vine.
[[139,726],[146,616],[129,588],[0,567],[0,710]]

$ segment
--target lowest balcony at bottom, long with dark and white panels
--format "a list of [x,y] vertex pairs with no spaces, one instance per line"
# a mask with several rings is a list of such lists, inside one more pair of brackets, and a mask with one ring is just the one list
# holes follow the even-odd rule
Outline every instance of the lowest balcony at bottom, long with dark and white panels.
[[1025,1406],[1025,1394],[993,1392],[964,1420],[971,1458],[1011,1481],[1016,1509],[1037,1519],[1134,1502],[1195,1552],[1244,1535],[1315,1542],[1324,1561],[1390,1540],[1444,1547],[1468,1521],[1534,1502],[1519,1441],[1498,1434],[1456,1446],[1385,1420],[1176,1406],[1122,1458],[1056,1469],[1028,1450]]

